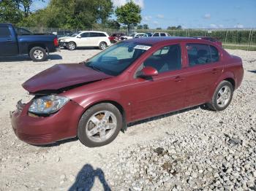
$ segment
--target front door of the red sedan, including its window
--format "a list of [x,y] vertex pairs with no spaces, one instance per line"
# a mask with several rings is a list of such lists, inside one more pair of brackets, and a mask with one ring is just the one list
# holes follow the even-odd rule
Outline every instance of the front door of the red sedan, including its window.
[[142,63],[140,69],[151,66],[158,75],[151,79],[135,78],[132,86],[132,120],[140,120],[175,111],[184,106],[185,79],[181,67],[181,47],[162,47]]

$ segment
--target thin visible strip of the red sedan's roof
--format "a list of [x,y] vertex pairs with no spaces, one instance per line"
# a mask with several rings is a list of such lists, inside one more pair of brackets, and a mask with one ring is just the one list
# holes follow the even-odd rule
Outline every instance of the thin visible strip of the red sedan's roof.
[[138,39],[128,39],[127,42],[137,42],[141,44],[161,44],[163,42],[177,42],[177,41],[186,41],[186,40],[193,40],[195,42],[208,42],[206,40],[201,39],[195,39],[192,37],[182,37],[182,36],[156,36],[156,37],[144,37],[144,38],[138,38]]

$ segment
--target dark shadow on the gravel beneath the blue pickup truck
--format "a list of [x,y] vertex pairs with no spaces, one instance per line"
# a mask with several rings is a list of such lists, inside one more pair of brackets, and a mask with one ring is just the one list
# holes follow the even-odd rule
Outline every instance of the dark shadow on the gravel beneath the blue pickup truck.
[[[61,55],[56,54],[50,54],[48,57],[48,60],[46,61],[54,61],[54,60],[61,60]],[[12,56],[1,56],[0,57],[0,63],[1,62],[18,62],[18,61],[31,61],[31,58],[29,58],[29,55],[12,55]]]

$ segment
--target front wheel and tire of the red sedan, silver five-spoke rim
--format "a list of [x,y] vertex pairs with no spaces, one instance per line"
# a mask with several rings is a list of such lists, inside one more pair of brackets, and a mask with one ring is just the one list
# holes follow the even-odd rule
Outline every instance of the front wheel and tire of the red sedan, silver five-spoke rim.
[[122,124],[122,115],[116,106],[97,104],[80,118],[78,139],[87,147],[101,147],[116,139]]

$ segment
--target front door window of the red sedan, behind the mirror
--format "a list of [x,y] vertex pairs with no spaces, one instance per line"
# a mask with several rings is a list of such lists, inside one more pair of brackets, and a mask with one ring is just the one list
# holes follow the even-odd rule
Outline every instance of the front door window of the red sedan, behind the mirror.
[[157,69],[158,73],[165,71],[174,71],[181,69],[181,47],[179,44],[173,44],[154,52],[144,61],[143,66],[151,66]]

